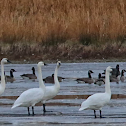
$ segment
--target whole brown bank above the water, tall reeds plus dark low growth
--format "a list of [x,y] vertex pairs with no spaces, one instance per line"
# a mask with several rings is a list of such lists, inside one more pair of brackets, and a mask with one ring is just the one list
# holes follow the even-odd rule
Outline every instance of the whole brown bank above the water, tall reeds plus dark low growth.
[[125,0],[1,0],[0,57],[125,58]]

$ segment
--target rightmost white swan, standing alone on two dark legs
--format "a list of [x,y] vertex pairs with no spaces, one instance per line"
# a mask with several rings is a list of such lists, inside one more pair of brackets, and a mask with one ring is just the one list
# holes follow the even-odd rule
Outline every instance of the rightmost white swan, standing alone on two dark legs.
[[82,111],[84,109],[92,109],[94,110],[94,116],[96,118],[96,111],[100,111],[100,118],[102,118],[101,115],[101,109],[104,105],[106,105],[110,99],[111,99],[111,89],[110,89],[110,79],[109,74],[112,71],[111,67],[106,68],[105,73],[105,93],[96,93],[88,97],[84,102],[81,104],[81,108],[79,111]]

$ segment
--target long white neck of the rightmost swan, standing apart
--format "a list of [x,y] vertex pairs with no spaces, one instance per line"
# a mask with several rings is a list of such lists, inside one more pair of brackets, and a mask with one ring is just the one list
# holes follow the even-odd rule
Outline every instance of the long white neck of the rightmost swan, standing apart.
[[105,74],[105,92],[111,95],[109,72]]

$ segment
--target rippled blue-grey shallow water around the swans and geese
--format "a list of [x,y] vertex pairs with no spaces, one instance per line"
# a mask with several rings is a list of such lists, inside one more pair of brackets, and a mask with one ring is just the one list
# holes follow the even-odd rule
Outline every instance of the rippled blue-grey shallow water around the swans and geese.
[[[115,67],[120,65],[120,70],[126,68],[125,62],[107,62],[107,63],[62,63],[58,75],[67,78],[60,83],[61,89],[58,95],[47,102],[46,109],[53,112],[47,112],[43,115],[42,104],[35,106],[35,116],[27,116],[27,109],[18,107],[11,110],[15,99],[25,90],[38,87],[38,80],[25,81],[20,75],[31,73],[31,68],[36,64],[7,64],[5,65],[6,75],[9,75],[11,68],[17,72],[14,73],[16,81],[6,84],[6,90],[0,97],[0,125],[2,126],[105,126],[105,125],[126,125],[126,83],[111,83],[112,99],[108,105],[103,107],[103,119],[97,117],[94,119],[92,110],[79,112],[80,104],[91,94],[104,92],[104,85],[78,84],[75,79],[78,77],[87,77],[88,70],[94,71],[93,78],[97,78],[98,73],[103,72],[107,66]],[[54,73],[56,64],[48,64],[42,68],[43,78]],[[37,74],[37,72],[36,72]],[[46,84],[52,85],[52,84]]]

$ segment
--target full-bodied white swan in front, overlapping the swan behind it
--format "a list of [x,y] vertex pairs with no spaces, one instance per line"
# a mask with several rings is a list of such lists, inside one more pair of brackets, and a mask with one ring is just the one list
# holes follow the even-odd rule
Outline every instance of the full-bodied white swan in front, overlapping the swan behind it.
[[16,107],[27,107],[28,108],[28,115],[30,115],[29,107],[32,106],[32,115],[34,115],[34,106],[36,103],[40,102],[45,93],[45,85],[42,79],[42,71],[41,67],[45,64],[43,62],[39,62],[38,67],[38,79],[39,79],[39,88],[31,88],[24,91],[14,102],[14,105],[11,109]]

